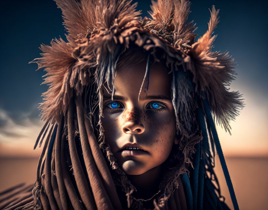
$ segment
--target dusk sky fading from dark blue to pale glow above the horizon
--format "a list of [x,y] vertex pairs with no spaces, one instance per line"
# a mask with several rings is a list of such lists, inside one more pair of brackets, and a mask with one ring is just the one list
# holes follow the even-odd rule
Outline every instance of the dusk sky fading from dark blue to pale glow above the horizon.
[[[135,2],[135,1],[133,1]],[[227,156],[268,156],[268,71],[265,22],[267,1],[191,1],[188,21],[203,35],[209,8],[220,9],[214,50],[229,52],[237,64],[237,79],[230,90],[243,94],[245,108],[231,123],[232,136],[217,126]],[[138,1],[142,16],[150,17],[150,1]],[[61,10],[52,0],[1,1],[0,50],[0,156],[39,156],[33,145],[44,122],[38,106],[48,88],[40,85],[45,72],[28,64],[40,57],[40,45],[53,38],[66,40]]]

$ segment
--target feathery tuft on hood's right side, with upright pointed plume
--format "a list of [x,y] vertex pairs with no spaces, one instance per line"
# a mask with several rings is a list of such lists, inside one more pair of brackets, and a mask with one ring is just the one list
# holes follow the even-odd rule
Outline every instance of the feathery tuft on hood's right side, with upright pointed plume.
[[217,26],[219,10],[212,7],[211,18],[208,23],[208,31],[200,37],[187,54],[191,61],[187,68],[192,71],[196,84],[196,91],[202,95],[206,93],[209,106],[217,123],[224,126],[230,132],[231,120],[234,120],[243,108],[243,101],[238,92],[229,92],[227,86],[235,79],[234,59],[228,53],[212,52],[213,41],[216,35],[212,33]]

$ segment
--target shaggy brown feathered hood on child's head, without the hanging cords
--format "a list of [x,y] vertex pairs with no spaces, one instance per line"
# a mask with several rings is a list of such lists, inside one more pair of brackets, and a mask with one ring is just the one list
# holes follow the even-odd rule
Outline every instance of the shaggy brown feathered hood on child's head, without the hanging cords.
[[[59,122],[73,94],[80,95],[89,78],[100,74],[106,56],[115,52],[121,44],[122,51],[135,43],[151,52],[161,49],[170,71],[183,67],[192,75],[194,91],[199,97],[208,98],[209,107],[217,123],[230,131],[229,121],[237,116],[242,107],[241,95],[229,92],[228,85],[235,79],[235,63],[228,53],[212,52],[216,35],[212,33],[218,23],[219,10],[212,7],[208,31],[196,42],[193,33],[195,24],[187,22],[190,2],[187,0],[159,0],[152,2],[152,19],[142,19],[137,4],[128,0],[56,0],[63,13],[64,25],[68,32],[65,42],[62,38],[51,41],[51,46],[42,45],[42,58],[32,62],[44,68],[44,84],[49,89],[43,94],[42,119]],[[114,70],[99,77],[98,84],[107,81],[113,91]],[[190,112],[185,101],[184,107]]]

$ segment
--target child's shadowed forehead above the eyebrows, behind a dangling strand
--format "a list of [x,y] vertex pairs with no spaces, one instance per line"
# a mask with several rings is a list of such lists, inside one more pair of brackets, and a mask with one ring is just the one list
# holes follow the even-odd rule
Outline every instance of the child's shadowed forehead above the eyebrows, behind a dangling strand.
[[[146,71],[146,63],[126,65],[116,70],[115,95],[123,95],[127,98],[138,100],[141,84]],[[147,89],[148,78],[145,78],[140,98],[146,95],[164,95],[170,98],[170,87],[172,77],[168,74],[167,68],[160,63],[150,66],[149,88]],[[107,93],[107,92],[106,92]]]

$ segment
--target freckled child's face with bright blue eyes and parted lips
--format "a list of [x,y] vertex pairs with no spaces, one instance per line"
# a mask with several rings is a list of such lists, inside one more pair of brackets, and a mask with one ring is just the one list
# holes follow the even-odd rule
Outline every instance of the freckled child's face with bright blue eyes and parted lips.
[[[145,69],[145,63],[117,69],[113,101],[105,85],[102,87],[104,118],[101,123],[105,142],[128,175],[140,175],[161,165],[168,158],[174,140],[178,143],[170,99],[171,75],[160,64],[151,66],[149,89],[146,94],[146,78],[138,101]],[[124,150],[127,143],[136,143],[146,152]]]

